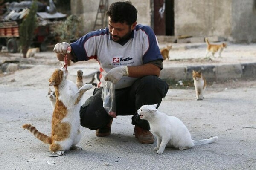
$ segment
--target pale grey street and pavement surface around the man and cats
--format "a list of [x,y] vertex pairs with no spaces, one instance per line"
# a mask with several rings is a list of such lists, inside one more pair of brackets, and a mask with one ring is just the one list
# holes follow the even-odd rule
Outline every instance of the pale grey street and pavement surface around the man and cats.
[[[222,59],[207,61],[204,45],[179,50],[174,49],[179,60],[164,61],[164,66],[183,64],[204,65],[228,64],[228,52],[235,53],[241,48],[243,61],[253,63],[255,44],[230,44]],[[243,52],[244,49],[244,52]],[[249,50],[250,49],[250,50]],[[191,50],[191,51],[189,51]],[[192,52],[194,51],[194,52]],[[249,53],[249,51],[251,53]],[[199,53],[200,52],[200,53]],[[187,54],[188,53],[188,54]],[[198,53],[200,55],[198,55]],[[171,55],[172,55],[171,54]],[[187,55],[186,55],[187,54]],[[240,54],[240,53],[239,53]],[[243,55],[244,54],[244,55]],[[245,55],[248,54],[248,55]],[[250,55],[251,56],[250,56]],[[3,55],[3,54],[1,54]],[[32,60],[55,56],[52,52],[42,52]],[[189,58],[190,56],[190,58]],[[198,56],[198,58],[193,56]],[[227,56],[227,57],[226,57]],[[233,55],[235,56],[235,55]],[[189,60],[186,60],[187,58]],[[226,58],[225,58],[226,57]],[[254,57],[254,58],[253,58]],[[182,58],[184,60],[182,60]],[[244,60],[244,58],[247,58]],[[217,62],[218,60],[218,62]],[[223,61],[222,61],[223,60]],[[234,60],[234,59],[233,59]],[[230,64],[233,64],[230,61]],[[225,62],[224,62],[225,61]],[[175,64],[176,62],[176,64]],[[217,62],[217,63],[216,63]],[[33,62],[32,62],[33,63]],[[204,100],[195,100],[192,87],[169,89],[159,107],[161,112],[173,115],[188,127],[192,138],[200,140],[218,136],[213,144],[196,146],[188,150],[166,148],[162,155],[154,151],[154,144],[140,144],[134,137],[131,116],[118,116],[112,124],[111,135],[96,137],[95,131],[81,127],[83,150],[67,151],[64,156],[49,157],[49,145],[36,139],[22,124],[32,123],[43,133],[50,135],[52,107],[47,98],[48,79],[58,62],[32,64],[30,69],[22,69],[0,77],[0,164],[3,170],[255,170],[256,169],[256,81],[228,80],[207,86]],[[169,66],[169,68],[173,68]],[[69,79],[75,81],[77,69],[84,72],[85,82],[89,81],[99,66],[96,62],[72,64]],[[84,94],[83,101],[92,95],[93,89]],[[52,164],[49,164],[52,163]]]

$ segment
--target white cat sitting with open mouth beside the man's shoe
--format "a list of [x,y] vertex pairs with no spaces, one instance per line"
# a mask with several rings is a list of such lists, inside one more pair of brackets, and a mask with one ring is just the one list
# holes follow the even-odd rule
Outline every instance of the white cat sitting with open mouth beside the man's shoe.
[[185,150],[218,140],[217,136],[200,141],[192,140],[189,130],[180,119],[159,112],[156,107],[157,104],[143,105],[138,110],[138,114],[141,119],[149,122],[151,132],[157,136],[157,147],[154,148],[157,150],[157,154],[162,154],[166,146]]

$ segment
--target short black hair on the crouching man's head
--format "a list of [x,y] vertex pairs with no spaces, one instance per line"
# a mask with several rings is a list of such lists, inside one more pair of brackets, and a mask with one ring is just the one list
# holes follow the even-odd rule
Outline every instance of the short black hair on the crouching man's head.
[[130,1],[112,3],[107,15],[113,23],[126,23],[131,26],[137,20],[137,9]]

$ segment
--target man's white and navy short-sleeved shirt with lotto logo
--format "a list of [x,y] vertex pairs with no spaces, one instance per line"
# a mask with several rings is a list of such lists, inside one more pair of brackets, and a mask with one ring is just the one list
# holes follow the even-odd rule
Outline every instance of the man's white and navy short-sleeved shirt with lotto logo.
[[[108,27],[92,31],[70,44],[75,55],[74,62],[96,59],[100,64],[101,84],[106,73],[118,66],[140,66],[150,61],[163,59],[157,38],[149,26],[137,25],[131,38],[124,43],[111,39]],[[137,78],[122,77],[116,89],[131,86]]]

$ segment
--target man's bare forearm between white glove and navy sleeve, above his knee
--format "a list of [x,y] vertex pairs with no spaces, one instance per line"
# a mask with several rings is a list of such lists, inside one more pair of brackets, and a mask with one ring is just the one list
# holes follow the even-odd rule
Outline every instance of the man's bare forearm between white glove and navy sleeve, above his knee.
[[128,66],[129,77],[140,78],[146,75],[160,75],[160,68],[154,64],[143,64],[141,66]]

